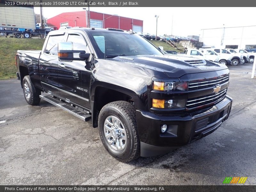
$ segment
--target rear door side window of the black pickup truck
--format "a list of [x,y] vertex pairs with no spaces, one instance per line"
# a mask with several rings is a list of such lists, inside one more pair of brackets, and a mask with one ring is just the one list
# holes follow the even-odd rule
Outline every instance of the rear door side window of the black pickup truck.
[[64,37],[64,35],[50,36],[47,41],[44,53],[50,55],[58,55],[58,43],[66,41]]

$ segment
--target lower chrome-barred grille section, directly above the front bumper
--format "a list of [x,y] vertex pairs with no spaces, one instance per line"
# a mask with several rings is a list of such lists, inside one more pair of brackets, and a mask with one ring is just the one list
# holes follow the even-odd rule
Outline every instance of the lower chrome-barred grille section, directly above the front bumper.
[[218,92],[217,94],[212,93],[210,95],[188,99],[186,108],[192,109],[192,108],[200,107],[207,104],[217,103],[223,100],[226,97],[226,94],[227,94],[227,89],[224,89]]

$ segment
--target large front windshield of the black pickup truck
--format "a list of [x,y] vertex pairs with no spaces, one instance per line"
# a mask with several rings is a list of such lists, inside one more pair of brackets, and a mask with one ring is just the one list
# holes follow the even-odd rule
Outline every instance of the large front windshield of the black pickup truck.
[[139,35],[97,31],[90,34],[100,59],[125,55],[163,55],[160,50]]

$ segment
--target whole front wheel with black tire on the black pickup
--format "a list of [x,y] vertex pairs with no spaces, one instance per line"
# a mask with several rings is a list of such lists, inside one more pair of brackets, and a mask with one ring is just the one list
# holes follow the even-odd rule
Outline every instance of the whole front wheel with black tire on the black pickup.
[[130,103],[115,101],[105,105],[99,114],[99,133],[103,146],[111,156],[124,163],[140,157],[135,111]]

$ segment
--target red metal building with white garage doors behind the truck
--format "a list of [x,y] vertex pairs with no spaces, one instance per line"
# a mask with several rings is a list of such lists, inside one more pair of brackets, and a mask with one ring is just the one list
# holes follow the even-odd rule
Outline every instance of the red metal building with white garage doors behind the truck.
[[[88,27],[88,18],[89,12],[87,10],[65,12],[47,19],[47,23],[51,23],[52,25],[56,26],[57,29],[62,26]],[[117,28],[123,30],[132,29],[135,32],[142,32],[143,20],[90,11],[90,27]]]

